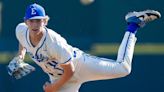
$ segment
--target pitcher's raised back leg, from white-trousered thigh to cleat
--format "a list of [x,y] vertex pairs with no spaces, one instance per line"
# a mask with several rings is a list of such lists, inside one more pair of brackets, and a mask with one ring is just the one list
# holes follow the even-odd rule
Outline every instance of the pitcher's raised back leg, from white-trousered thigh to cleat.
[[127,14],[128,27],[119,47],[117,60],[85,55],[85,61],[80,71],[83,81],[111,79],[128,75],[131,72],[137,30],[143,27],[145,23],[159,17],[159,12],[152,10]]

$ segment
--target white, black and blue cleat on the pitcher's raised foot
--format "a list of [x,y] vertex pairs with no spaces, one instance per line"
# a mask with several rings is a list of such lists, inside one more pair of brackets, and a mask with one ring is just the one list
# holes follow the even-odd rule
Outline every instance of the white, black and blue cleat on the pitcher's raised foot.
[[128,23],[136,23],[143,27],[146,23],[156,20],[161,17],[161,14],[155,10],[145,10],[140,12],[130,12],[125,16]]

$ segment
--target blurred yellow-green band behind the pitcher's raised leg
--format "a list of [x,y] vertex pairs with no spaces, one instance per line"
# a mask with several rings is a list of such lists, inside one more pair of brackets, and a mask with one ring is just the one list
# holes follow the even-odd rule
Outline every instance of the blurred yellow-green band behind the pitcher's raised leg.
[[[94,55],[116,55],[118,43],[96,43],[92,46],[90,53]],[[164,43],[137,43],[134,48],[135,55],[164,55]]]

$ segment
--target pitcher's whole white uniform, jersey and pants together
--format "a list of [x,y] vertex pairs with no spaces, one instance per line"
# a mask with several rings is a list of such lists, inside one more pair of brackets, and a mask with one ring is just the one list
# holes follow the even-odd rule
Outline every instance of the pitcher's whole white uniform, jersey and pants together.
[[78,92],[82,83],[92,80],[123,77],[131,71],[135,35],[126,32],[118,51],[117,60],[99,58],[83,53],[67,44],[55,31],[45,28],[43,37],[37,46],[29,39],[28,27],[20,23],[16,28],[16,37],[26,52],[55,82],[63,74],[60,63],[73,62],[75,73],[59,92]]

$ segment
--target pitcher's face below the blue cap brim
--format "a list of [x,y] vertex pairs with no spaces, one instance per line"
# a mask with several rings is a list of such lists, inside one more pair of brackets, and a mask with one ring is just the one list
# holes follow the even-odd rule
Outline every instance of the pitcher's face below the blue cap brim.
[[25,22],[29,30],[33,33],[40,32],[45,26],[44,19],[30,19],[30,20],[26,20]]

